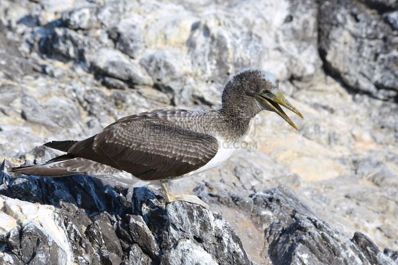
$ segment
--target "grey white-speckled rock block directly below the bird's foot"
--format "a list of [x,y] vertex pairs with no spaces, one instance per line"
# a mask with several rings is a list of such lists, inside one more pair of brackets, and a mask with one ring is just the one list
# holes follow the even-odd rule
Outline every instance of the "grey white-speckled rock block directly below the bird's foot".
[[[170,224],[163,237],[166,253],[170,246],[174,246],[175,243],[188,238],[191,241],[182,244],[178,248],[183,253],[184,249],[188,247],[187,245],[191,245],[188,248],[198,250],[198,247],[195,246],[198,244],[205,252],[211,255],[217,264],[252,263],[244,251],[235,230],[221,215],[207,211],[199,205],[187,206],[187,202],[172,203],[167,206]],[[171,255],[177,256],[175,252],[176,250]],[[185,256],[183,253],[178,256]],[[207,257],[208,255],[205,258],[209,259]]]

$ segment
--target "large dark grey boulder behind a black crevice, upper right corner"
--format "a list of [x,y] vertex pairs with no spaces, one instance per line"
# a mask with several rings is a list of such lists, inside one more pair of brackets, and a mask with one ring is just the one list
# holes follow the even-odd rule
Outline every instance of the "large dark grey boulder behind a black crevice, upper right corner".
[[348,87],[394,99],[398,95],[398,54],[393,47],[397,47],[398,31],[383,19],[384,12],[394,9],[389,1],[364,2],[321,3],[320,54],[325,67]]

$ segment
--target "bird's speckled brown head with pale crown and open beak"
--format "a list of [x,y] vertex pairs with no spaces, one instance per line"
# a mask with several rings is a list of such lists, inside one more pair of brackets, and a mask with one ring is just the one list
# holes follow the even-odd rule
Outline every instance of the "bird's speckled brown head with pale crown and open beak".
[[303,118],[279,90],[275,76],[259,68],[245,69],[233,76],[222,94],[222,109],[231,115],[252,118],[262,110],[272,111],[298,130],[280,105]]

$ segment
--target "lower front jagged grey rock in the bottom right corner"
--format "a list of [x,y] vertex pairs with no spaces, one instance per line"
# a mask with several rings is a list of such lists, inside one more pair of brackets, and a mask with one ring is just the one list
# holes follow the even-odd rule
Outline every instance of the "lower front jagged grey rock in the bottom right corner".
[[322,221],[306,217],[285,228],[278,222],[271,224],[266,242],[270,259],[277,264],[394,264],[359,234],[349,241]]

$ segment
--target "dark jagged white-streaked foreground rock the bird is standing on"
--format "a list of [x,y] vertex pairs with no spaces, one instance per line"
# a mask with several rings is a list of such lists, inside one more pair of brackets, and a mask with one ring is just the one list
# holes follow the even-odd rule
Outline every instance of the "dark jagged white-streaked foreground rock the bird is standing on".
[[10,178],[0,168],[1,264],[251,264],[235,230],[199,205],[90,176]]

